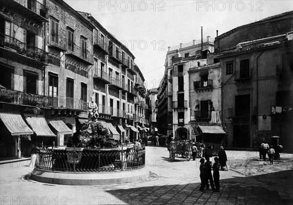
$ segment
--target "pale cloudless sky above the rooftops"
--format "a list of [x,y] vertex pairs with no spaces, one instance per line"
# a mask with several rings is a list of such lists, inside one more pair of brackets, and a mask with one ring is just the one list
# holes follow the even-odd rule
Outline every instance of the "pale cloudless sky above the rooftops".
[[90,13],[135,56],[147,89],[159,86],[168,46],[293,10],[292,0],[64,0]]

